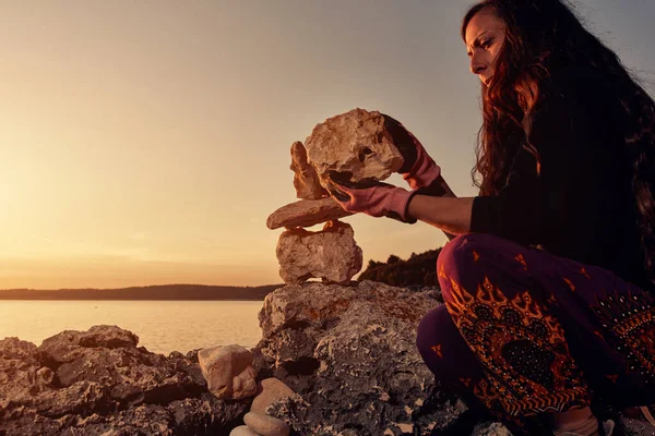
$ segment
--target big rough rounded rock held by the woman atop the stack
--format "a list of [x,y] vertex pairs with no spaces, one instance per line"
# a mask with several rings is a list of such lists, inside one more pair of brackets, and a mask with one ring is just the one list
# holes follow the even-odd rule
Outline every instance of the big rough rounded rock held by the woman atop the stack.
[[305,147],[324,187],[332,171],[346,173],[358,182],[384,180],[403,166],[403,156],[378,111],[358,108],[329,118],[317,124]]

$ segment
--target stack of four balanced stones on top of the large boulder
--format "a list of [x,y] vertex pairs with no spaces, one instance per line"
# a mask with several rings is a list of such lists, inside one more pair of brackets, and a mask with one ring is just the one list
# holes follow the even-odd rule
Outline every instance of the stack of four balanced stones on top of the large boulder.
[[[298,202],[275,210],[269,229],[285,227],[277,242],[279,276],[289,284],[310,278],[325,283],[348,284],[361,269],[361,249],[353,228],[338,221],[353,215],[329,194],[330,175],[352,182],[384,180],[403,166],[403,156],[377,111],[354,109],[318,124],[305,145],[291,145],[294,187]],[[325,222],[321,231],[308,231]]]

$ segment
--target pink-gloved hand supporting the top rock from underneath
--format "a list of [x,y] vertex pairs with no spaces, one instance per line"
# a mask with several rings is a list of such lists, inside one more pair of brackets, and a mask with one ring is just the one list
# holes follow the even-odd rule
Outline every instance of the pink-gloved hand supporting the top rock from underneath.
[[347,211],[364,213],[371,217],[389,217],[408,223],[416,222],[416,219],[407,214],[407,205],[416,192],[374,180],[355,183],[338,173],[330,174],[326,187],[332,197]]

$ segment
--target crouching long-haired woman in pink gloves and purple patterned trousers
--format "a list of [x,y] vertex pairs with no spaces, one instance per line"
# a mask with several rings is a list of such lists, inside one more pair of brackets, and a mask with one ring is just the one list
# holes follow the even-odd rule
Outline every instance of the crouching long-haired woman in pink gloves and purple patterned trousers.
[[515,434],[611,434],[596,415],[612,411],[648,424],[655,104],[560,0],[483,1],[462,37],[483,82],[480,195],[455,197],[391,118],[412,191],[334,174],[331,194],[456,237],[437,265],[445,305],[417,338],[442,385]]

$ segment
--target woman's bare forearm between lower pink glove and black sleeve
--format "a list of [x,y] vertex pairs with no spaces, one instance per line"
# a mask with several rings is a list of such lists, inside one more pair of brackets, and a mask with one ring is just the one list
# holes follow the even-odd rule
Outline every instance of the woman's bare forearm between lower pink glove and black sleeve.
[[452,240],[471,231],[473,199],[457,198],[454,194],[441,197],[417,194],[412,197],[407,211],[414,218],[443,230]]

